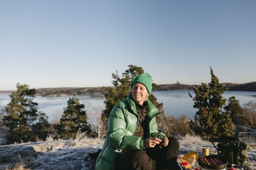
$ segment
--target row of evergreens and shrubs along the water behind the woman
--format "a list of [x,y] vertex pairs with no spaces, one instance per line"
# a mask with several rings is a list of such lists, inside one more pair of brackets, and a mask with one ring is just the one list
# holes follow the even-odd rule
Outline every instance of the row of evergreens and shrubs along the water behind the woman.
[[[222,94],[227,90],[224,83],[219,83],[212,68],[211,82],[196,85],[194,88],[195,97],[191,94],[196,108],[195,119],[181,115],[179,119],[172,115],[167,117],[163,110],[163,103],[158,103],[157,98],[152,94],[149,99],[156,105],[163,114],[157,117],[159,130],[168,136],[180,134],[196,134],[204,139],[218,138],[221,135],[233,136],[234,125],[239,124],[256,129],[256,104],[248,103],[241,108],[236,97],[223,99]],[[29,89],[28,85],[17,83],[17,90],[10,94],[11,101],[4,110],[0,111],[0,131],[6,131],[6,143],[22,143],[45,139],[50,133],[58,133],[58,138],[74,139],[77,131],[86,133],[88,137],[106,137],[108,117],[116,103],[125,99],[130,92],[130,85],[138,74],[144,73],[142,67],[129,65],[124,73],[118,71],[112,74],[112,87],[103,87],[103,94],[106,97],[105,108],[97,118],[97,125],[87,122],[87,115],[84,104],[79,103],[76,93],[67,101],[67,107],[63,109],[60,122],[49,124],[48,117],[42,111],[38,111],[33,101],[36,95],[35,89]],[[157,85],[153,83],[153,90]],[[227,101],[227,104],[226,104]]]

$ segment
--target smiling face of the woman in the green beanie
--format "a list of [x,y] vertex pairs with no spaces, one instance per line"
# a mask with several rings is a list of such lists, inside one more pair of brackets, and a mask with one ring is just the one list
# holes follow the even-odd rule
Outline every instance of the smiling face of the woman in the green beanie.
[[132,86],[132,99],[134,99],[134,101],[142,105],[148,96],[148,90],[145,85],[141,83],[134,83]]

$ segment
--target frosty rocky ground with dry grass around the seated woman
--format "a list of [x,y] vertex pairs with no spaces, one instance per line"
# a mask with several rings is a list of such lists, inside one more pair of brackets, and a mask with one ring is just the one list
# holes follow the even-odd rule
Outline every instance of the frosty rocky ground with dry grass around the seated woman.
[[[209,148],[210,154],[216,149],[208,141],[198,137],[180,137],[180,154],[196,151],[202,155],[202,148]],[[92,153],[102,148],[104,140],[80,137],[73,140],[53,140],[36,143],[21,143],[0,146],[0,169],[23,167],[26,169],[86,169],[92,170],[95,160]],[[248,150],[249,160],[237,169],[256,169],[256,149]],[[17,168],[18,169],[18,168]],[[21,168],[20,168],[21,169]]]

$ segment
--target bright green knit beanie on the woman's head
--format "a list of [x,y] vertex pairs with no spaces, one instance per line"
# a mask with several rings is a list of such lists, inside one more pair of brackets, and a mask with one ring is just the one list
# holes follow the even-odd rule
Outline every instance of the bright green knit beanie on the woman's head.
[[150,76],[150,74],[143,73],[143,74],[136,76],[136,78],[134,78],[134,80],[132,81],[131,89],[132,89],[132,86],[134,85],[134,83],[141,83],[141,84],[145,85],[145,87],[148,90],[148,94],[151,94],[151,92],[152,92],[152,77]]

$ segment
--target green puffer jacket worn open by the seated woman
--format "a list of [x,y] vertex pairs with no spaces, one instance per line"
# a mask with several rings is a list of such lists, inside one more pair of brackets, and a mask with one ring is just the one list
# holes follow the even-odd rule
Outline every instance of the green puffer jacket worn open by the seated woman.
[[[161,112],[156,106],[148,101],[147,110],[147,136],[156,137],[159,133],[156,124],[156,116]],[[113,170],[115,169],[115,160],[122,150],[143,149],[144,139],[139,136],[133,136],[139,121],[139,115],[136,111],[136,105],[131,98],[120,101],[115,105],[108,118],[108,136],[105,139],[102,151],[96,160],[95,170]]]

